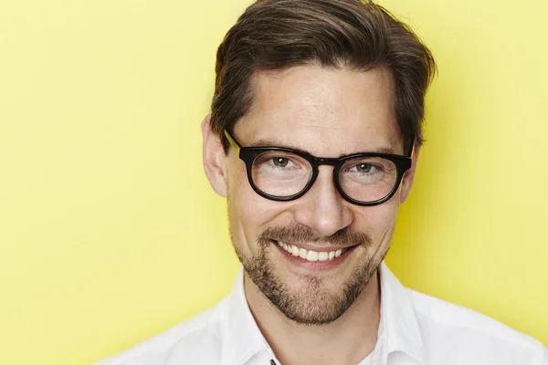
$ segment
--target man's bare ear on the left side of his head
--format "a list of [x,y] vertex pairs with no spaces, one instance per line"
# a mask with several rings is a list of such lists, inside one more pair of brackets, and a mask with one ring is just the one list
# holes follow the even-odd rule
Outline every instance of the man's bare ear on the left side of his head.
[[202,158],[207,180],[217,194],[227,197],[227,155],[219,136],[211,130],[211,115],[202,121]]

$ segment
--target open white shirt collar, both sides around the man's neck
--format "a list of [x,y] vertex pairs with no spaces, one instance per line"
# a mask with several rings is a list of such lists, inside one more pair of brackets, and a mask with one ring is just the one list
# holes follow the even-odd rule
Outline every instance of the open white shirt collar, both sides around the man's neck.
[[[385,262],[379,268],[381,280],[381,324],[379,336],[385,343],[384,354],[402,351],[424,364],[426,354],[415,311],[406,288],[390,271]],[[222,365],[242,365],[260,351],[269,351],[248,307],[244,292],[244,270],[240,266],[237,279],[228,297],[224,299],[222,318]],[[381,341],[381,339],[379,339]]]

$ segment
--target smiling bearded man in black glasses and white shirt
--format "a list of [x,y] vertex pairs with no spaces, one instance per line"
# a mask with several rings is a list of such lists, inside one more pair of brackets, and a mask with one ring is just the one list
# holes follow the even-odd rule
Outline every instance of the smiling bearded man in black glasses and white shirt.
[[100,364],[548,364],[539,342],[383,262],[434,70],[373,3],[251,5],[218,48],[202,123],[243,269],[216,308]]

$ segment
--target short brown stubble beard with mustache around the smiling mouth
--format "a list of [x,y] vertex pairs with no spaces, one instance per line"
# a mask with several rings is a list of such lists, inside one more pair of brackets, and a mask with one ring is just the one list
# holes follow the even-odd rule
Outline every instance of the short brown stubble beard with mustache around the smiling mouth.
[[[286,242],[299,242],[302,238],[302,241],[314,242],[318,237],[302,225],[267,228],[258,235],[258,252],[252,257],[243,255],[232,239],[240,262],[260,292],[285,317],[303,325],[321,326],[340,318],[367,287],[385,257],[382,255],[374,259],[364,255],[353,274],[336,293],[328,290],[317,276],[300,276],[300,287],[294,289],[276,274],[275,264],[269,259],[270,251],[278,249],[269,239],[272,236],[279,240],[283,238]],[[369,252],[367,248],[373,245],[369,235],[355,233],[349,228],[331,237],[323,237],[321,241],[339,244],[344,241],[347,244],[359,242],[364,247],[358,246],[354,250],[364,249],[365,252]]]

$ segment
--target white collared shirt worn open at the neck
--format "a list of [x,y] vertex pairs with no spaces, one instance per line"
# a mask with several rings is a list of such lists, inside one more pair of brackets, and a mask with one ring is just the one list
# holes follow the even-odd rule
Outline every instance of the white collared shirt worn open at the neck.
[[[359,365],[548,365],[548,349],[501,323],[403,287],[380,268],[381,320]],[[272,362],[274,361],[274,362]],[[244,293],[243,269],[215,308],[96,365],[279,364]]]

